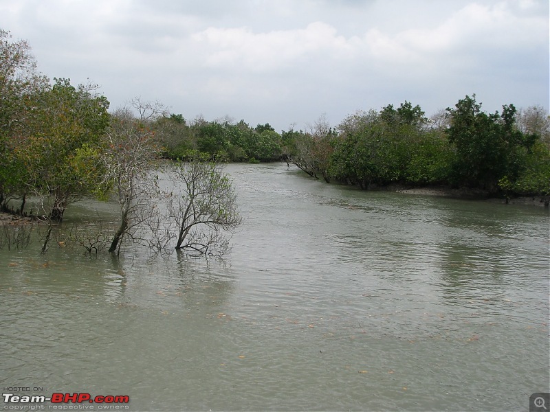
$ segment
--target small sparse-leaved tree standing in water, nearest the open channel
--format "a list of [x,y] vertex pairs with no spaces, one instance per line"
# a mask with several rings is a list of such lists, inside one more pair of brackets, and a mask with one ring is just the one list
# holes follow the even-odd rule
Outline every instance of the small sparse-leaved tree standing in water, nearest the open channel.
[[[173,176],[180,184],[168,203],[168,214],[177,227],[176,250],[223,255],[229,236],[241,223],[232,182],[219,163],[180,162]],[[228,236],[229,235],[229,236]]]

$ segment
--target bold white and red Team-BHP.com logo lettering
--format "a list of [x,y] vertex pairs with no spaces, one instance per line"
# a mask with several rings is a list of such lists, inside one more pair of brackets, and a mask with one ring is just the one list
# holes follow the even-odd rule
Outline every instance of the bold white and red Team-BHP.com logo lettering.
[[[130,397],[127,395],[98,395],[93,398],[89,393],[52,393],[52,396],[43,395],[14,395],[13,393],[2,393],[2,398],[5,404],[44,404],[52,402],[52,404],[60,404],[55,409],[68,409],[67,405],[63,408],[63,404],[99,404],[98,409],[113,409],[113,404],[127,404],[130,402]],[[104,406],[102,408],[102,406]],[[6,407],[4,407],[6,409]],[[87,408],[88,409],[88,408]],[[93,407],[89,408],[93,409]],[[119,408],[116,408],[119,409]]]

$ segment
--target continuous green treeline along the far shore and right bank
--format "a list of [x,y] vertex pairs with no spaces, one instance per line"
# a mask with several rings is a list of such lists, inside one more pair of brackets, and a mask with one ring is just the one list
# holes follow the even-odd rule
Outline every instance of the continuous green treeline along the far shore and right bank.
[[473,95],[428,118],[404,102],[359,111],[331,127],[277,133],[243,120],[190,124],[182,115],[153,125],[165,157],[197,153],[217,161],[288,161],[307,174],[362,188],[391,184],[450,185],[490,194],[550,194],[550,119],[544,109],[485,113]]

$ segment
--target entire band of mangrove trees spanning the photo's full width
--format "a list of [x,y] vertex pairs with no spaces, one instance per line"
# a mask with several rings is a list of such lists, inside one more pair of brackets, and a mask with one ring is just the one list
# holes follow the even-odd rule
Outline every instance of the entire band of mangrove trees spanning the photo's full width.
[[[41,199],[35,214],[61,221],[67,205],[82,198],[120,199],[120,184],[160,157],[284,160],[327,182],[363,188],[451,185],[503,196],[550,195],[550,121],[537,106],[517,111],[508,104],[485,113],[473,95],[428,118],[404,102],[353,113],[336,127],[321,118],[305,131],[277,133],[270,124],[243,120],[188,122],[140,99],[109,113],[97,90],[36,73],[29,45],[0,30],[3,209],[23,213],[33,196]],[[142,158],[130,156],[137,154]]]

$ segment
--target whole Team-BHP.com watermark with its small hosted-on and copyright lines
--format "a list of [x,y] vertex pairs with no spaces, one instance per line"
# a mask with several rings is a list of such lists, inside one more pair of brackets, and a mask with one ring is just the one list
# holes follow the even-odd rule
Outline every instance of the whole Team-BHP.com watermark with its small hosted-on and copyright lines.
[[8,386],[2,391],[3,411],[130,411],[130,396],[52,391],[47,387]]

